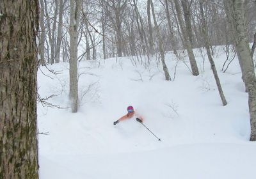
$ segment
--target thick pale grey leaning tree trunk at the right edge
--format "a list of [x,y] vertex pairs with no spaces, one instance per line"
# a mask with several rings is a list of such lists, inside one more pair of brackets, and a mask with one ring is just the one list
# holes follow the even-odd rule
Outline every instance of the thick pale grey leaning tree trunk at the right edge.
[[241,66],[243,81],[248,89],[248,105],[250,111],[251,136],[250,141],[256,141],[256,77],[253,67],[250,47],[244,24],[243,3],[240,0],[226,0],[227,17],[232,22],[234,30],[234,42]]

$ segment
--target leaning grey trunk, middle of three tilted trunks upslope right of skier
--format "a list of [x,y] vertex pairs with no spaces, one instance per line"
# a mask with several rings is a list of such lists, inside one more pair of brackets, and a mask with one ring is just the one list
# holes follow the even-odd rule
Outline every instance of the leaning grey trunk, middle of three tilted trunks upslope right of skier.
[[199,75],[199,71],[198,71],[198,67],[197,67],[197,64],[196,64],[196,59],[195,59],[195,56],[194,56],[194,53],[193,53],[192,45],[189,41],[188,31],[187,31],[187,29],[184,25],[184,21],[182,19],[180,4],[179,4],[178,0],[174,0],[174,3],[175,3],[176,12],[177,12],[177,18],[178,18],[179,24],[180,24],[180,29],[181,29],[182,35],[184,37],[184,45],[185,45],[185,48],[188,51],[188,57],[189,57],[190,65],[191,65],[192,74],[197,76],[197,75]]

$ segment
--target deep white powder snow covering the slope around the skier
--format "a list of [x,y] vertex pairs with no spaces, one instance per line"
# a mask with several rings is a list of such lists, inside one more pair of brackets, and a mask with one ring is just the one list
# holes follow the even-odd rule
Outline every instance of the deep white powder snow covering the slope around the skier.
[[[76,114],[68,102],[68,63],[47,66],[57,74],[40,66],[40,96],[56,95],[49,102],[65,107],[38,104],[39,132],[48,134],[39,134],[40,178],[255,178],[256,143],[248,141],[248,95],[239,63],[235,59],[224,74],[225,54],[217,49],[225,107],[208,59],[204,72],[197,50],[197,77],[182,61],[175,69],[177,59],[166,54],[175,81],[164,80],[156,58],[147,68],[132,58],[79,63]],[[161,142],[134,118],[113,125],[128,105]]]

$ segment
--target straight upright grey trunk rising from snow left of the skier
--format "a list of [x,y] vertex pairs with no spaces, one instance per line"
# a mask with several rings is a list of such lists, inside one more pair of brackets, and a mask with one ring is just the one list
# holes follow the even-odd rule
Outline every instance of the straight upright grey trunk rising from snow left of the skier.
[[77,29],[80,20],[81,1],[70,0],[70,60],[69,60],[69,97],[72,113],[77,112],[78,86],[77,86]]

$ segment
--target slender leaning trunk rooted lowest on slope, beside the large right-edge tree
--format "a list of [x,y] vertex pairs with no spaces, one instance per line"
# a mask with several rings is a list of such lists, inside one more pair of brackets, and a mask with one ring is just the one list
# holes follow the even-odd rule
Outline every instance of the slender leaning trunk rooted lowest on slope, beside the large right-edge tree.
[[208,56],[208,59],[211,63],[211,69],[212,69],[214,79],[215,79],[217,87],[218,87],[218,91],[219,91],[219,94],[220,94],[222,104],[227,105],[227,100],[226,100],[226,98],[224,96],[224,93],[223,93],[223,90],[221,88],[220,79],[218,77],[218,73],[217,73],[214,61],[212,59],[212,56],[211,56],[210,42],[209,42],[209,36],[208,36],[208,32],[207,32],[206,20],[205,20],[205,17],[204,17],[204,10],[203,10],[202,0],[200,1],[199,5],[200,5],[201,18],[202,18],[202,31],[203,31],[203,35],[204,35],[205,48],[206,48],[206,51],[207,51],[207,56]]

